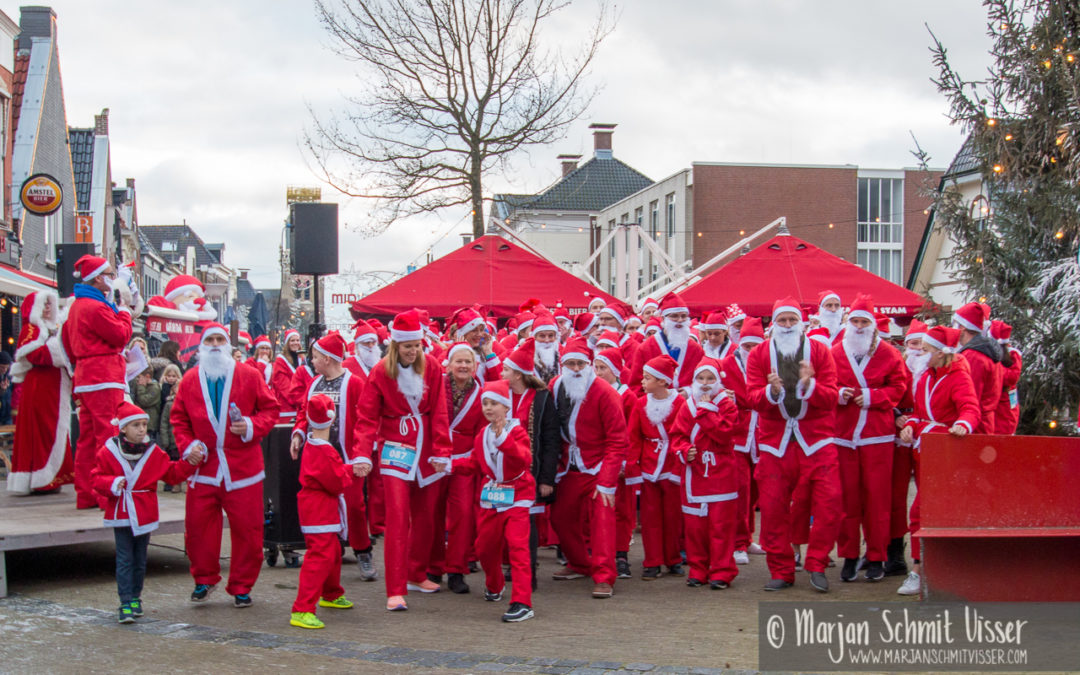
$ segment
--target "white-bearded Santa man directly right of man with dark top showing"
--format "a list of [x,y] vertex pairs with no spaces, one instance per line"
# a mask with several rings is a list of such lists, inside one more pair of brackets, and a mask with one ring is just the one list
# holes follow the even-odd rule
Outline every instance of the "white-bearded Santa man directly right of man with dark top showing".
[[892,507],[892,458],[896,438],[893,410],[907,389],[900,352],[878,336],[874,300],[851,303],[843,338],[833,346],[836,383],[836,453],[840,463],[843,521],[837,552],[840,581],[854,581],[860,528],[866,539],[867,581],[885,578]]

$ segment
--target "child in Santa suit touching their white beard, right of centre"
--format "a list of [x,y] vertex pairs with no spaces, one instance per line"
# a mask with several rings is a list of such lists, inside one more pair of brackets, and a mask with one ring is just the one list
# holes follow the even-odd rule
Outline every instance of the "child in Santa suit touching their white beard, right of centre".
[[652,581],[661,567],[683,576],[679,538],[683,534],[679,484],[681,471],[672,436],[675,420],[686,402],[673,389],[678,364],[667,355],[656,356],[644,366],[642,389],[630,418],[630,457],[626,459],[627,485],[642,486],[642,543],[645,561],[642,580]]

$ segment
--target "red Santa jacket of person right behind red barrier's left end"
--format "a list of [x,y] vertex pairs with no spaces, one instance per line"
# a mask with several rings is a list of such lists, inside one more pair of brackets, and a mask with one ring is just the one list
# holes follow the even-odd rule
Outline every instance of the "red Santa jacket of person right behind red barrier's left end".
[[957,355],[948,366],[927,368],[919,378],[915,386],[915,413],[905,426],[915,431],[918,448],[922,434],[946,432],[953,424],[963,424],[973,432],[981,417],[968,362]]

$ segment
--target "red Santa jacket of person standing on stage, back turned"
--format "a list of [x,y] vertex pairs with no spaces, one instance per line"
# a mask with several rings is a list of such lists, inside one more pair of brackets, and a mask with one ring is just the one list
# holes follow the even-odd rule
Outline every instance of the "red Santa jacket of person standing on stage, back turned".
[[[82,284],[79,284],[82,286]],[[75,364],[73,393],[126,389],[123,350],[132,339],[132,314],[96,297],[76,297],[60,329],[60,341]]]

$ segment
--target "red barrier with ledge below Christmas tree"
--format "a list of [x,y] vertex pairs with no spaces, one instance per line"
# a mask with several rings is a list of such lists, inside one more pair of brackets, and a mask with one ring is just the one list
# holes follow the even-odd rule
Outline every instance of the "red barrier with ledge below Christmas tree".
[[922,436],[924,597],[1080,600],[1080,438]]

